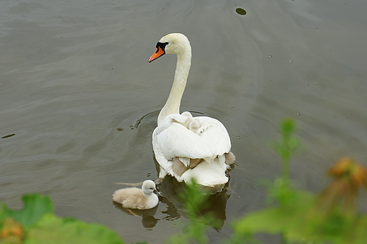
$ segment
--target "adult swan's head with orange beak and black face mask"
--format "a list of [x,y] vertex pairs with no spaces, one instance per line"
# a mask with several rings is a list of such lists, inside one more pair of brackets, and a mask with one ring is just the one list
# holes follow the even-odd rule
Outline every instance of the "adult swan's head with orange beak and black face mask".
[[178,56],[182,54],[191,55],[190,42],[188,42],[187,37],[181,33],[165,35],[157,42],[156,48],[157,50],[150,56],[149,62],[158,59],[164,54],[177,54]]

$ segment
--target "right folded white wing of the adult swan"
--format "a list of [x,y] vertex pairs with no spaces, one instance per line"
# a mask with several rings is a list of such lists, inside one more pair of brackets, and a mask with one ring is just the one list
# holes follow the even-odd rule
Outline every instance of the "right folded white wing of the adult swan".
[[198,128],[197,134],[205,141],[210,151],[215,155],[222,155],[231,150],[231,140],[227,129],[220,121],[208,117],[194,118],[198,119],[201,125]]

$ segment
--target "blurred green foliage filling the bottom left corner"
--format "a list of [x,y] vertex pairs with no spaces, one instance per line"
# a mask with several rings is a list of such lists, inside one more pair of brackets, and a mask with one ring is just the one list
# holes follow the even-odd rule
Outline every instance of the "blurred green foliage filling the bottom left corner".
[[9,209],[3,203],[0,210],[0,243],[52,244],[52,243],[124,243],[109,228],[85,223],[78,219],[54,215],[49,197],[24,195],[23,209]]

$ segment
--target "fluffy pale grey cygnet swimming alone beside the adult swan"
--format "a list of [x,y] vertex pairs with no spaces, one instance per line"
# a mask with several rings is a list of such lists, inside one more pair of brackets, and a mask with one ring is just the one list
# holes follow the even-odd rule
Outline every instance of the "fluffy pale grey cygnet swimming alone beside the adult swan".
[[158,204],[158,196],[153,193],[154,181],[144,181],[141,189],[123,188],[112,195],[115,202],[121,203],[127,209],[152,209]]

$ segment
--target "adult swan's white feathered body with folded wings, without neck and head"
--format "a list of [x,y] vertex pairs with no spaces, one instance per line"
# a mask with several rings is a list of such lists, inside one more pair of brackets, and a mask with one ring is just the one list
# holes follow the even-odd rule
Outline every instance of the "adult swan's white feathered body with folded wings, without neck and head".
[[188,112],[164,118],[153,132],[153,149],[161,168],[178,181],[188,183],[195,178],[210,188],[221,188],[228,182],[225,172],[235,159],[222,123]]

